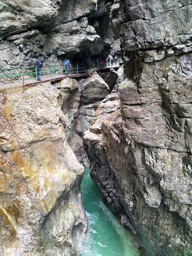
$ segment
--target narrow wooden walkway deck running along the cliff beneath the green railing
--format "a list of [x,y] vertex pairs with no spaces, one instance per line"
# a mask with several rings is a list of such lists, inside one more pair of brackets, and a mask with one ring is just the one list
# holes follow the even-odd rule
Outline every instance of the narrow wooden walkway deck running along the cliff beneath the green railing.
[[110,70],[111,68],[113,69],[118,69],[120,66],[112,66],[112,67],[100,67],[100,68],[95,68],[95,69],[90,69],[88,70],[86,73],[72,73],[72,74],[68,74],[67,76],[65,76],[64,74],[55,74],[55,75],[48,75],[48,76],[42,76],[41,80],[37,82],[36,79],[28,79],[28,80],[24,80],[22,81],[14,81],[11,83],[0,83],[0,92],[4,92],[4,91],[9,91],[9,90],[14,90],[17,88],[22,88],[22,87],[27,87],[27,86],[34,86],[37,84],[42,84],[42,83],[47,83],[47,82],[55,82],[55,81],[60,81],[62,79],[65,78],[78,78],[78,77],[87,77],[90,74],[99,71],[99,70]]

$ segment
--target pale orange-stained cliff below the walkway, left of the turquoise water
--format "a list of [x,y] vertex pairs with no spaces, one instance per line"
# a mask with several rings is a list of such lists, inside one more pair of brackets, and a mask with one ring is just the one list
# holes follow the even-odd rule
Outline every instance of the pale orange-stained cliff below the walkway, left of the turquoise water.
[[0,94],[0,255],[72,255],[87,222],[84,168],[50,84]]

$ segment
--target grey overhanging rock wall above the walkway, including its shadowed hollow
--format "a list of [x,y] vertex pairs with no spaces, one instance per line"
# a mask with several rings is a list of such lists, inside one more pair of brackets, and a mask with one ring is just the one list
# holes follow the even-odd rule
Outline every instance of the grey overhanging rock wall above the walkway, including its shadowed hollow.
[[38,58],[47,65],[72,55],[76,61],[81,52],[94,56],[105,48],[120,49],[104,0],[0,1],[1,69],[33,66]]

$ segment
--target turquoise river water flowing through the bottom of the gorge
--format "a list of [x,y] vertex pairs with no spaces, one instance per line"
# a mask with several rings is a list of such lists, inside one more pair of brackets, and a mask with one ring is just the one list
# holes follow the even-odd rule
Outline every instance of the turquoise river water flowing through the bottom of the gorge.
[[80,255],[139,256],[129,232],[120,225],[119,221],[102,203],[88,169],[84,174],[81,190],[89,229]]

